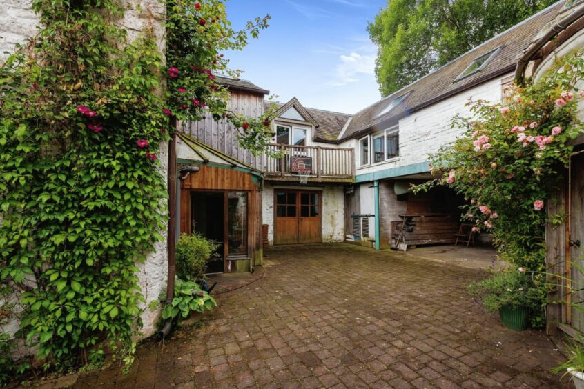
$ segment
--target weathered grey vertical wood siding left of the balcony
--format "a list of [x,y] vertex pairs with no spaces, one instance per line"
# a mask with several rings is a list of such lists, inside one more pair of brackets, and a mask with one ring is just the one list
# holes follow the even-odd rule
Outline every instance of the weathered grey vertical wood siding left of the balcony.
[[[264,113],[264,95],[233,90],[227,106],[229,110],[235,113],[257,118]],[[224,120],[215,121],[211,114],[207,114],[202,121],[184,123],[182,132],[190,134],[206,145],[239,159],[258,170],[262,168],[262,158],[255,157],[251,152],[240,146],[237,141],[237,128],[231,123]]]

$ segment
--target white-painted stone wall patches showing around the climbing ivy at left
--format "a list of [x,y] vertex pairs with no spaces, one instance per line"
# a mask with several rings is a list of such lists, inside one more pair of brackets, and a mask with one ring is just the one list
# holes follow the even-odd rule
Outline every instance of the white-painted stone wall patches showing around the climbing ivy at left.
[[[36,32],[38,17],[31,9],[32,0],[2,0],[0,2],[0,63],[8,57],[4,52],[14,52],[16,43],[23,43]],[[126,12],[119,21],[119,26],[128,31],[128,40],[133,41],[139,34],[151,28],[161,53],[166,48],[166,8],[159,0],[124,0]],[[161,161],[160,173],[168,175],[168,144],[161,143],[159,150]],[[146,299],[142,321],[142,338],[154,335],[157,330],[157,321],[160,307],[150,309],[148,306],[159,298],[166,290],[166,274],[168,269],[168,255],[166,253],[166,230],[162,231],[164,241],[155,246],[155,252],[150,253],[144,263],[140,263],[139,286]],[[18,328],[17,321],[6,326],[0,326],[1,331],[13,332]]]

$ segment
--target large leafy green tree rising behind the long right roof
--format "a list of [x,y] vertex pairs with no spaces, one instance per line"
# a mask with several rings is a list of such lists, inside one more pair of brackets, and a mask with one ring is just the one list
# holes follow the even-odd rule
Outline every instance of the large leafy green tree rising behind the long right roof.
[[507,30],[555,0],[388,0],[367,28],[383,96]]

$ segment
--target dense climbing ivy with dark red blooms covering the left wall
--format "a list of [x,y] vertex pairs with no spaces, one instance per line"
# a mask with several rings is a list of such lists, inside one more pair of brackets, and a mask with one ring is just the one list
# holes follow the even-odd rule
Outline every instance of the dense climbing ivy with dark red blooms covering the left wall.
[[[169,1],[168,59],[182,72],[172,77],[152,31],[127,43],[118,0],[32,6],[37,36],[0,66],[0,320],[21,319],[17,337],[38,347],[46,369],[99,363],[104,347],[129,366],[144,303],[137,263],[166,226],[158,151],[174,129],[169,117],[227,114],[209,77],[225,63],[209,59],[244,46],[246,32],[227,34],[222,1]],[[223,30],[192,26],[193,10],[218,15]],[[204,49],[189,54],[195,46]],[[207,108],[177,112],[175,79]],[[264,142],[269,133],[256,127],[242,139]]]

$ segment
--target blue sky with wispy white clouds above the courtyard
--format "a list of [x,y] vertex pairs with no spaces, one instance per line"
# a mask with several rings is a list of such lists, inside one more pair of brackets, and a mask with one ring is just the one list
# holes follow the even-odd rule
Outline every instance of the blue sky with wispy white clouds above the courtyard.
[[230,67],[286,102],[356,113],[380,99],[376,46],[367,34],[387,0],[228,0],[233,28],[270,14],[270,27],[242,52],[228,52]]

